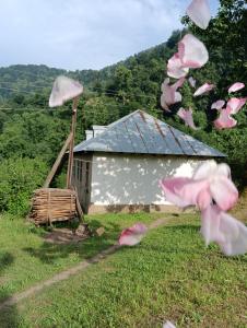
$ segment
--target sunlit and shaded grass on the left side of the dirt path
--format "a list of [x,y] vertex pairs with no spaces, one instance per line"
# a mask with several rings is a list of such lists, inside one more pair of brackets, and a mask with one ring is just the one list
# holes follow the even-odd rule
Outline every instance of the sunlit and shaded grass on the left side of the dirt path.
[[[105,226],[102,237],[83,243],[52,245],[44,243],[46,233],[23,219],[0,216],[0,302],[13,293],[72,267],[113,245],[122,227],[136,221],[151,222],[162,214],[106,214],[86,218],[92,229]],[[164,216],[164,214],[163,214]]]

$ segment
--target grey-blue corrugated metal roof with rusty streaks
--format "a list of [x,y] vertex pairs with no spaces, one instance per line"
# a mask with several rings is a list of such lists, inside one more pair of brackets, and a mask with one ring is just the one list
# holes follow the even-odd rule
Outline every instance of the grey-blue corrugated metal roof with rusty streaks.
[[142,110],[122,117],[99,136],[74,148],[74,152],[85,151],[225,157],[217,150]]

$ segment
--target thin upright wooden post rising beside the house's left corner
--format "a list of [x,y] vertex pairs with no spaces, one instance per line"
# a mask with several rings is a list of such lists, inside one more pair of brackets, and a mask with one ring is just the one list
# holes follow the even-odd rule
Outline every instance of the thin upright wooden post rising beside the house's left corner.
[[74,134],[75,134],[75,126],[77,126],[77,110],[78,110],[79,96],[73,99],[73,112],[72,112],[72,124],[71,124],[71,134],[72,139],[70,142],[70,153],[69,153],[69,162],[68,162],[68,171],[67,171],[67,188],[71,189],[71,179],[72,179],[72,171],[73,171],[73,148],[74,148]]

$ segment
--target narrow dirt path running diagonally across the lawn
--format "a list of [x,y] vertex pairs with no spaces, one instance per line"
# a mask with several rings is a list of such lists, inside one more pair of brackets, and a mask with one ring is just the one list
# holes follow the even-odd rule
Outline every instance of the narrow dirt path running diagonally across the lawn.
[[[149,227],[152,229],[156,229],[158,226],[164,225],[165,223],[167,223],[167,219],[157,219],[156,221],[154,221]],[[83,270],[85,270],[89,266],[92,266],[93,263],[97,263],[99,261],[102,261],[103,259],[105,259],[107,256],[109,256],[110,254],[114,254],[117,249],[121,248],[122,246],[116,244],[110,246],[109,248],[98,253],[97,255],[95,255],[94,257],[92,257],[89,260],[83,260],[82,262],[80,262],[79,265],[77,265],[75,267],[72,267],[68,270],[61,271],[60,273],[54,276],[52,278],[45,280],[32,288],[30,288],[28,290],[22,292],[22,293],[16,293],[13,294],[11,297],[7,298],[5,301],[0,303],[0,311],[3,307],[8,307],[8,306],[12,306],[16,303],[19,303],[20,301],[28,297],[30,295],[37,293],[39,291],[42,291],[43,289],[50,286],[59,281],[66,280],[71,276],[74,276]]]

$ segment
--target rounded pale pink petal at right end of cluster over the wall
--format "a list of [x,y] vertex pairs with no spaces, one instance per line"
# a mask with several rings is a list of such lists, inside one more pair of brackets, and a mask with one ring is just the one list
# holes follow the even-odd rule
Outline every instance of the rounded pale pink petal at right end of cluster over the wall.
[[225,175],[215,175],[210,183],[210,192],[219,208],[227,211],[238,200],[238,191],[231,179]]

